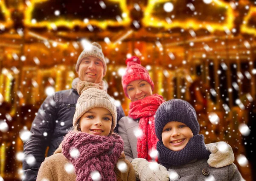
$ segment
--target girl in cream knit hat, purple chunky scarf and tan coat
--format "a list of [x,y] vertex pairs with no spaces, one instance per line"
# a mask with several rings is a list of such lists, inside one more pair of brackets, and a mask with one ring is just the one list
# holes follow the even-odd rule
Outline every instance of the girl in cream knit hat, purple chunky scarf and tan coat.
[[122,152],[122,138],[113,133],[116,107],[111,97],[93,85],[80,87],[74,130],[41,164],[37,181],[134,181],[133,167]]

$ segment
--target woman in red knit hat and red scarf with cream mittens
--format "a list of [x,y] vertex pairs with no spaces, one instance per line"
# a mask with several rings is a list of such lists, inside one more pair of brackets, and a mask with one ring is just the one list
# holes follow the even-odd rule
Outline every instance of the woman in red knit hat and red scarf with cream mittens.
[[[164,102],[163,97],[152,94],[154,83],[148,71],[140,65],[138,57],[127,59],[126,65],[125,74],[122,76],[122,86],[125,95],[131,99],[131,104],[128,116],[118,122],[118,132],[124,140],[125,157],[131,161],[135,175],[141,181],[169,181],[168,171],[161,165],[159,165],[160,170],[157,171],[144,172],[143,169],[140,169],[142,167],[144,170],[149,168],[150,151],[156,149],[154,115],[157,108]],[[221,167],[233,163],[234,154],[230,145],[228,146],[230,152],[226,157],[227,161],[216,157],[218,154],[222,154],[216,150],[216,144],[209,145],[208,150],[212,153],[209,158],[210,166]]]

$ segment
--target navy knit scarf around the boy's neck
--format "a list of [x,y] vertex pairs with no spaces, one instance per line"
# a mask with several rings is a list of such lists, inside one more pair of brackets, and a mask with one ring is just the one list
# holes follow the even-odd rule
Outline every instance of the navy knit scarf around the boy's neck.
[[158,141],[157,151],[158,161],[166,168],[187,164],[194,159],[208,159],[210,155],[204,144],[204,136],[198,134],[189,139],[186,146],[179,151],[169,150],[162,141]]

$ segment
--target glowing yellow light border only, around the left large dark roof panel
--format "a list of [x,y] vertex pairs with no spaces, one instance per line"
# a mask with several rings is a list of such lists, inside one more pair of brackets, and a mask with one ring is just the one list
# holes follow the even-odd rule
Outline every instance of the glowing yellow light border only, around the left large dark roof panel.
[[72,20],[72,21],[67,21],[64,19],[58,19],[54,22],[49,22],[49,21],[41,21],[41,22],[31,22],[32,21],[32,11],[34,10],[34,7],[37,3],[42,3],[46,2],[49,0],[32,0],[31,5],[27,7],[25,11],[25,24],[29,27],[47,27],[48,29],[53,29],[51,24],[54,23],[56,27],[58,26],[65,26],[67,28],[74,28],[75,26],[79,26],[82,28],[87,27],[87,25],[95,25],[99,28],[105,29],[107,26],[120,26],[120,25],[129,25],[131,23],[131,19],[128,16],[129,11],[126,6],[126,0],[109,0],[110,2],[116,2],[119,3],[119,6],[122,10],[122,21],[117,21],[117,20],[88,20],[88,21],[81,21],[78,19]]

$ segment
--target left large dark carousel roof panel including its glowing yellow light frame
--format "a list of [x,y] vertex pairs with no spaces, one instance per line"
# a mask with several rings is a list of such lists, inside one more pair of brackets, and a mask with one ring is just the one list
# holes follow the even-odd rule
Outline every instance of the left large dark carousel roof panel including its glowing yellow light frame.
[[32,0],[25,11],[24,24],[29,28],[56,30],[57,27],[93,31],[93,26],[105,29],[108,26],[128,25],[130,17],[124,0]]

